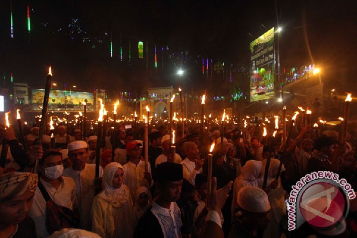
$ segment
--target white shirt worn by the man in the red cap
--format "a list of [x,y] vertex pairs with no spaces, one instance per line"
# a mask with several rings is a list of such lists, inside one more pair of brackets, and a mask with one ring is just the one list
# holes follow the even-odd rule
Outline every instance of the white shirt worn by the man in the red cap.
[[[151,188],[153,182],[151,181],[150,185],[148,186],[148,182],[144,179],[144,172],[145,172],[145,162],[140,160],[137,165],[133,162],[129,161],[123,165],[124,169],[124,184],[129,187],[130,195],[132,199],[135,199],[136,189],[144,186]],[[151,174],[151,167],[150,163],[147,163],[147,172]],[[134,203],[135,201],[133,201]]]

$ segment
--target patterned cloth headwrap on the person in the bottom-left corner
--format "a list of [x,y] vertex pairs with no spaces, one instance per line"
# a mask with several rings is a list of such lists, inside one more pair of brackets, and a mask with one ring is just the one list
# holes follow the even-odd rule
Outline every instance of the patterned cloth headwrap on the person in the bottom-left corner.
[[0,176],[0,203],[24,194],[35,192],[38,183],[37,174],[12,172]]

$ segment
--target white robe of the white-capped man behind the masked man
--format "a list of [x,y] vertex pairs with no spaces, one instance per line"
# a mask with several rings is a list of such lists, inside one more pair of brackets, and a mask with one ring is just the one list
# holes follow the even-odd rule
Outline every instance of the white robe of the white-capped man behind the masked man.
[[[73,178],[76,183],[76,193],[79,202],[81,228],[87,231],[91,229],[90,208],[95,196],[95,164],[86,164],[81,171],[73,170],[71,167],[63,171],[63,176]],[[99,166],[99,177],[103,176],[103,169]]]

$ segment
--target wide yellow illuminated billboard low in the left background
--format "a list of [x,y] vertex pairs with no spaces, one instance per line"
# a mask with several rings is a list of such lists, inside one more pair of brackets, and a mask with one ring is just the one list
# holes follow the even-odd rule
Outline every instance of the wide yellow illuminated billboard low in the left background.
[[[32,103],[43,103],[44,102],[45,90],[43,89],[32,89]],[[66,105],[79,105],[81,102],[87,104],[93,104],[94,95],[92,92],[73,92],[73,91],[63,91],[63,90],[51,90],[49,103],[50,104],[66,104]]]

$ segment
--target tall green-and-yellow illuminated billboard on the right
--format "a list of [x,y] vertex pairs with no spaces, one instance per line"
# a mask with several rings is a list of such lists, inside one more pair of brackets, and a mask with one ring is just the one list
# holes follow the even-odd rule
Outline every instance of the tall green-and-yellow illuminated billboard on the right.
[[274,96],[274,27],[250,42],[250,101]]

